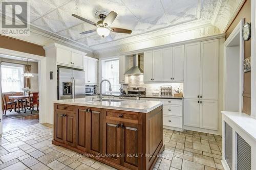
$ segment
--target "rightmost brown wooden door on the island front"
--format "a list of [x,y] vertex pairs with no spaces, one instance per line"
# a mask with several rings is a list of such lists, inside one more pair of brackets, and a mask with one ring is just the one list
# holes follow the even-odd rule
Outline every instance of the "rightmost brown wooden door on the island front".
[[129,169],[141,169],[141,157],[135,156],[142,153],[141,125],[122,124],[121,153],[125,155],[121,158],[121,164]]

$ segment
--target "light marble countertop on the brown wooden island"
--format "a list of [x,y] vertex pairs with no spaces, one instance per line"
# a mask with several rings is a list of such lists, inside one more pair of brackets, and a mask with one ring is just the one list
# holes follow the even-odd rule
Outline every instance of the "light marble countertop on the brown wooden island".
[[75,105],[75,106],[85,106],[85,107],[95,107],[95,108],[103,108],[103,109],[133,111],[133,112],[141,112],[141,113],[148,113],[156,109],[157,107],[163,105],[163,102],[160,102],[160,101],[122,100],[119,102],[109,103],[109,101],[102,101],[102,102],[99,102],[98,100],[90,101],[86,98],[58,100],[58,101],[54,101],[54,103]]

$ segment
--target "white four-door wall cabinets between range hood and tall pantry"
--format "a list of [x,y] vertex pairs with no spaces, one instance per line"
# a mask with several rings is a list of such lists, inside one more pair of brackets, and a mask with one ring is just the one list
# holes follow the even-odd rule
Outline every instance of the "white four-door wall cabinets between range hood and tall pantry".
[[182,82],[184,45],[144,52],[144,82]]

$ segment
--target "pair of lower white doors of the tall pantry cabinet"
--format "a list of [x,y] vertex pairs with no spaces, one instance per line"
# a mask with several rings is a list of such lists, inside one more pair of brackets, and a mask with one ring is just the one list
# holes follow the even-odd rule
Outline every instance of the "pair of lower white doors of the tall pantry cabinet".
[[218,101],[184,99],[184,125],[218,130]]

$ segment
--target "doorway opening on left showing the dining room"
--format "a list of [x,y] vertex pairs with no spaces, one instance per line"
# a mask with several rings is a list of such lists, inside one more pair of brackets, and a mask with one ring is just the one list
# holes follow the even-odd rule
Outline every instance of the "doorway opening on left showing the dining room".
[[3,132],[38,124],[38,62],[9,55],[0,60]]

